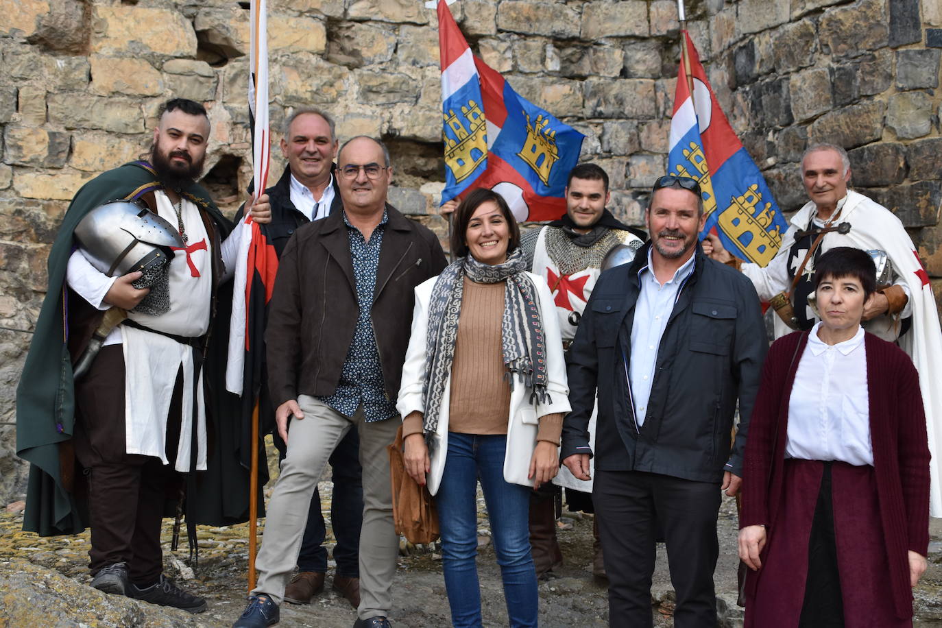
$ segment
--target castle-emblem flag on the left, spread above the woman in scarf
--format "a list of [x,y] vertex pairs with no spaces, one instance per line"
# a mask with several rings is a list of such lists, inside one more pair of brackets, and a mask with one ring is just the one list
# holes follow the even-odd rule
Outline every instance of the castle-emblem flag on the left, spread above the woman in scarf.
[[471,54],[445,0],[437,8],[447,166],[442,201],[488,187],[507,200],[517,220],[559,218],[584,136],[518,96]]

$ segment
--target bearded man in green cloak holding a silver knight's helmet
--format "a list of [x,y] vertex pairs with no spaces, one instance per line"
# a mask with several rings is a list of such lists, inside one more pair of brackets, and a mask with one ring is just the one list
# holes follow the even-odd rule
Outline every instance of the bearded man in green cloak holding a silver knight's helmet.
[[180,472],[206,468],[203,357],[235,267],[237,242],[223,242],[232,225],[196,183],[208,138],[203,105],[173,99],[148,161],[75,194],[17,389],[17,453],[31,463],[24,529],[89,525],[92,587],[191,613],[205,600],[163,575],[160,527]]

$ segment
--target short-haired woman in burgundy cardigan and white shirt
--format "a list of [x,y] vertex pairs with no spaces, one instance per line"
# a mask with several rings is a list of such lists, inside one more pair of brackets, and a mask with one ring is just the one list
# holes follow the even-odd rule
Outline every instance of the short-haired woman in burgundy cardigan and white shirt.
[[820,323],[771,346],[749,428],[745,625],[912,626],[929,545],[918,374],[860,327],[866,252],[829,250],[814,281]]

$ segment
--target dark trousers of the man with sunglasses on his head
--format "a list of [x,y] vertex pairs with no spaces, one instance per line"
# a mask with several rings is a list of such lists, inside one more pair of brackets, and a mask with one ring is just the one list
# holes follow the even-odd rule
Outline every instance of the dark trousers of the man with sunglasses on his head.
[[651,576],[659,524],[676,593],[674,626],[716,626],[720,484],[595,469],[593,503],[609,576],[609,625],[653,625]]

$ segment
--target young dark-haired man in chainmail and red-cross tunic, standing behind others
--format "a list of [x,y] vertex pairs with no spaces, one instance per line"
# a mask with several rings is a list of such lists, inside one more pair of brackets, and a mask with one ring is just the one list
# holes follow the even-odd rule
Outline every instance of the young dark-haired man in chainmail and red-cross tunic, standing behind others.
[[[647,235],[611,215],[609,175],[595,164],[579,164],[566,184],[566,214],[539,229],[525,233],[520,248],[532,271],[544,277],[556,301],[563,348],[576,336],[579,318],[603,268],[630,263]],[[594,439],[594,417],[590,425]],[[579,480],[562,467],[553,484],[530,495],[530,546],[538,576],[547,577],[562,564],[556,539],[560,487],[566,490],[570,510],[594,512],[592,480]],[[598,525],[594,524],[593,574],[605,575]]]

